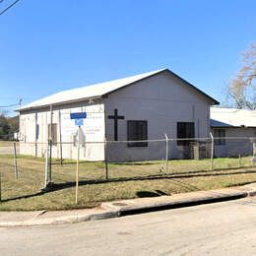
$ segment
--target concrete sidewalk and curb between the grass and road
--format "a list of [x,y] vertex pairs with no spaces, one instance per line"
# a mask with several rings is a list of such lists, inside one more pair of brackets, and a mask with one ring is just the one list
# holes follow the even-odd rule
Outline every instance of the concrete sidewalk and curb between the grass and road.
[[126,215],[234,200],[256,195],[256,183],[241,187],[197,191],[172,196],[136,198],[102,203],[93,209],[71,211],[0,212],[0,226],[72,224]]

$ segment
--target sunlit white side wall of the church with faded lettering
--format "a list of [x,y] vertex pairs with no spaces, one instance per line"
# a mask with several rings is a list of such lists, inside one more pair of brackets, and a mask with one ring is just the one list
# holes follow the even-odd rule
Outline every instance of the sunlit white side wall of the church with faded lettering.
[[[82,134],[87,142],[81,149],[81,160],[104,160],[105,124],[104,124],[104,105],[101,101],[96,103],[80,102],[67,104],[65,106],[53,107],[52,123],[57,124],[57,145],[52,146],[52,157],[59,159],[76,159],[77,147],[71,142],[77,134],[78,127],[75,121],[70,119],[71,112],[88,113],[84,125],[81,126]],[[44,157],[48,138],[48,124],[50,124],[49,109],[21,113],[20,125],[20,153]],[[37,125],[37,128],[36,128]],[[37,129],[37,132],[36,132]],[[37,133],[37,136],[36,136]],[[62,143],[60,143],[62,142]]]

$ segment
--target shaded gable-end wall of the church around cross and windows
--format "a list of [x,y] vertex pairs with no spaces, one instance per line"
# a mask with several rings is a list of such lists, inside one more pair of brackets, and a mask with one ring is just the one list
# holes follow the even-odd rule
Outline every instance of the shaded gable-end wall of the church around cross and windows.
[[[124,115],[118,120],[118,140],[127,140],[127,120],[147,120],[148,139],[176,138],[177,122],[194,122],[196,137],[209,137],[210,102],[189,86],[161,73],[128,86],[105,98],[106,116]],[[106,118],[107,140],[114,140],[114,122]],[[187,148],[170,143],[169,159],[184,158]],[[107,147],[108,160],[161,160],[165,156],[165,143],[150,143],[149,147],[128,148],[127,144]]]

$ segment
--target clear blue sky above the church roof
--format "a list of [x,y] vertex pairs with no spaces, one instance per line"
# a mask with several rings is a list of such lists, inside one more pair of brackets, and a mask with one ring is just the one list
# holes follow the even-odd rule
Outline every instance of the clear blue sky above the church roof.
[[222,101],[255,11],[255,0],[21,0],[0,16],[0,106],[164,67]]

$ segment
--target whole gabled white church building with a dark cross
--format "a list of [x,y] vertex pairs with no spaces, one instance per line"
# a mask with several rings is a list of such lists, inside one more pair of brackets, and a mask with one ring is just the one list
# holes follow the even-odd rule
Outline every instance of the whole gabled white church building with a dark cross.
[[[72,112],[87,112],[81,126],[83,160],[161,160],[168,138],[209,137],[210,105],[219,102],[168,69],[63,91],[21,108],[21,154],[44,156],[52,109],[52,156],[75,159]],[[106,139],[106,149],[102,143]],[[133,143],[118,141],[135,141]],[[136,142],[138,141],[138,142]],[[59,142],[62,142],[61,146]],[[95,143],[93,143],[95,142]],[[31,143],[31,144],[28,144]],[[172,142],[169,158],[188,157],[187,142]]]

